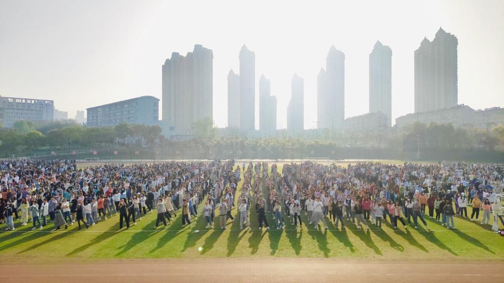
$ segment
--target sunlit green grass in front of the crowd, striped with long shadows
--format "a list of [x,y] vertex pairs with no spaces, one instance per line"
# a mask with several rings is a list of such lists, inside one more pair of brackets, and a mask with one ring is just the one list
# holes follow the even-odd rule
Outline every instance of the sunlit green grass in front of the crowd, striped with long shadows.
[[[281,166],[278,166],[281,170]],[[241,188],[241,183],[238,184]],[[263,186],[264,189],[264,186]],[[239,195],[239,192],[236,193]],[[202,205],[200,205],[200,208]],[[286,229],[274,229],[273,216],[268,214],[270,231],[258,230],[255,209],[251,208],[251,230],[239,230],[236,219],[227,229],[219,229],[215,218],[214,230],[205,229],[201,216],[193,227],[181,228],[180,214],[167,228],[154,230],[156,214],[148,214],[129,230],[118,230],[118,216],[97,223],[86,230],[77,224],[68,230],[54,229],[52,224],[40,232],[31,226],[19,227],[15,232],[0,232],[0,254],[4,258],[21,260],[113,259],[113,258],[196,258],[196,257],[339,257],[388,259],[502,259],[504,238],[490,231],[490,226],[456,218],[455,230],[448,230],[433,220],[426,219],[428,229],[408,226],[394,229],[384,225],[376,230],[357,230],[351,223],[346,229],[315,230],[303,225],[294,230],[285,217]],[[237,214],[233,209],[233,215]],[[468,214],[471,207],[468,207]],[[482,214],[480,214],[480,219]],[[328,220],[329,221],[329,220]],[[493,221],[493,216],[491,216]],[[413,220],[412,220],[413,222]],[[306,216],[303,215],[303,223]],[[163,227],[162,225],[160,227]],[[195,233],[199,231],[198,233]]]

